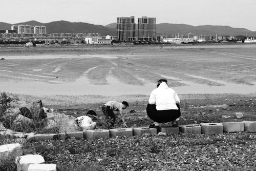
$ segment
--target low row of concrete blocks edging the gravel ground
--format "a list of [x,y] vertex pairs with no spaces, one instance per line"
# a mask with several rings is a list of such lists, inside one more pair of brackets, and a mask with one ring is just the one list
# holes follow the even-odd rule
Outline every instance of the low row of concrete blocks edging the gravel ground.
[[[256,132],[256,121],[243,122],[224,122],[224,123],[201,123],[190,125],[179,125],[179,127],[160,127],[161,132],[166,134],[178,134],[184,132],[187,134],[223,134],[223,132],[240,132],[249,131]],[[54,140],[65,139],[66,137],[75,139],[93,139],[93,138],[109,138],[116,136],[155,136],[156,128],[138,127],[138,128],[117,128],[117,129],[94,129],[77,132],[66,132],[60,134],[34,134],[33,132],[26,134],[26,140]]]

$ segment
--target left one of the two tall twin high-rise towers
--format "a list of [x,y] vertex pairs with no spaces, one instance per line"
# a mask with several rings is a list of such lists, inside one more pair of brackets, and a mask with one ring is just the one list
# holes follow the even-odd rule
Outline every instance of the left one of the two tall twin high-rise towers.
[[117,40],[135,41],[135,21],[134,16],[117,17]]

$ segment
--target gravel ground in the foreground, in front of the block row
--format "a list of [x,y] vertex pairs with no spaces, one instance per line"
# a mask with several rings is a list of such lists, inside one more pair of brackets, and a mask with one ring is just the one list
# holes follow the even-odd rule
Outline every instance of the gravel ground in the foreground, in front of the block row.
[[[126,137],[31,142],[26,153],[61,170],[255,170],[256,134]],[[77,169],[79,170],[79,169]],[[86,170],[86,169],[85,169]]]

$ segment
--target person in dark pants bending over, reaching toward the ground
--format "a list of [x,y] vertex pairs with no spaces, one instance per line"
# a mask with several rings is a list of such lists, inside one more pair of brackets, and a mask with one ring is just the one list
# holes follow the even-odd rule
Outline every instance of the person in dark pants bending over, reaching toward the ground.
[[126,101],[123,101],[122,103],[116,101],[109,101],[102,106],[102,111],[105,116],[106,128],[110,129],[114,127],[116,116],[113,111],[119,111],[123,119],[122,110],[126,107],[129,107],[129,104]]

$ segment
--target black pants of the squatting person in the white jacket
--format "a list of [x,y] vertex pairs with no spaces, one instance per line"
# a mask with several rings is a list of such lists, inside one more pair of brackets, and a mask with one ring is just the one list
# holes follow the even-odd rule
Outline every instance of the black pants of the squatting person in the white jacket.
[[157,110],[156,105],[147,104],[146,112],[147,116],[155,122],[166,123],[175,121],[180,117],[180,106],[177,104],[178,110]]

